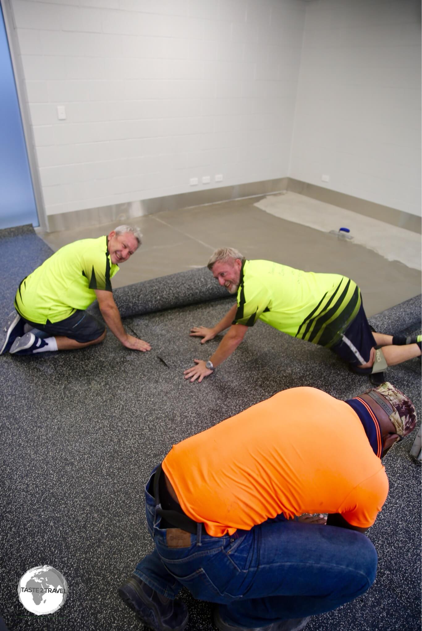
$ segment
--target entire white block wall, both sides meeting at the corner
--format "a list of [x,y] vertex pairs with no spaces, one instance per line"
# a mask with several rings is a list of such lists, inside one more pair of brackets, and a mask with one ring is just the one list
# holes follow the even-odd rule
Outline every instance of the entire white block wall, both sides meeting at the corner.
[[418,0],[2,2],[47,215],[287,176],[421,215]]

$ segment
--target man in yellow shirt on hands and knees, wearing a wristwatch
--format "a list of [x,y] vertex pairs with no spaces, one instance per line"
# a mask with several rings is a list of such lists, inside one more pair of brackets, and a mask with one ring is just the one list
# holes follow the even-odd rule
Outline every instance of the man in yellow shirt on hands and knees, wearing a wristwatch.
[[[421,339],[373,333],[359,287],[340,274],[316,274],[271,261],[246,261],[232,248],[216,250],[208,269],[238,304],[212,328],[191,329],[202,343],[230,327],[208,362],[195,359],[184,378],[201,382],[236,350],[260,319],[292,337],[327,346],[355,372],[377,374],[421,355]],[[380,378],[381,377],[381,378]],[[380,383],[383,375],[371,377]]]

